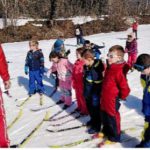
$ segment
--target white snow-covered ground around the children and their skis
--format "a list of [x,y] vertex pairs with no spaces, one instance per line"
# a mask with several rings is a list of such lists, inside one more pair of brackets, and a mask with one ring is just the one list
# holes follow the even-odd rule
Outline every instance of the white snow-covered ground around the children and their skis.
[[[105,42],[106,47],[102,49],[102,57],[105,59],[108,49],[114,44],[120,44],[125,46],[125,38],[128,33],[131,32],[131,29],[123,32],[111,32],[111,33],[101,33],[91,36],[84,37],[85,39],[90,40],[93,43],[102,45],[102,42]],[[138,51],[141,53],[149,53],[149,41],[150,41],[150,25],[140,25],[138,31]],[[45,56],[45,67],[48,69],[51,66],[48,56],[55,40],[43,40],[39,41],[39,47],[42,48]],[[75,38],[70,38],[65,40],[65,44],[76,44]],[[3,94],[5,100],[5,110],[6,110],[6,119],[7,124],[9,125],[15,116],[17,116],[20,109],[23,110],[22,116],[15,122],[15,124],[8,129],[9,138],[12,144],[18,144],[21,142],[24,137],[30,134],[30,132],[39,124],[44,118],[46,113],[50,113],[50,116],[62,109],[61,106],[54,106],[42,111],[33,112],[31,108],[34,108],[39,105],[39,95],[34,95],[29,101],[27,101],[23,107],[17,107],[22,100],[16,101],[16,99],[23,99],[27,97],[28,93],[28,76],[24,74],[24,63],[27,51],[29,50],[28,41],[26,42],[15,42],[15,43],[5,43],[2,44],[7,61],[10,61],[9,72],[11,75],[12,87],[10,89],[10,94],[13,96],[9,98],[6,94]],[[69,60],[74,63],[76,60],[74,46],[66,46],[66,49],[71,50],[69,55]],[[127,56],[125,56],[127,58]],[[140,141],[140,134],[143,129],[144,118],[141,113],[141,99],[142,99],[142,87],[140,85],[140,73],[134,71],[133,73],[128,74],[127,78],[131,88],[131,93],[127,98],[126,102],[122,102],[120,113],[121,113],[121,128],[125,130],[124,137],[132,137],[131,140],[116,143],[113,145],[106,145],[106,147],[134,147]],[[44,76],[44,85],[46,93],[50,93],[53,90],[54,81],[48,79]],[[74,96],[74,95],[73,95]],[[49,98],[47,95],[44,96],[44,105],[53,105],[54,101],[59,100],[59,91],[52,97]],[[59,116],[66,115],[69,111],[64,111]],[[59,117],[58,116],[58,117]],[[69,116],[67,119],[61,119],[60,121],[55,121],[56,123],[63,123],[68,119],[72,119],[73,116]],[[87,117],[84,119],[76,119],[69,123],[63,124],[59,128],[68,128],[76,125],[81,125],[81,122],[86,122]],[[23,144],[23,147],[48,147],[50,145],[59,145],[72,143],[81,139],[89,137],[86,132],[86,127],[79,129],[68,130],[65,132],[55,132],[50,133],[47,131],[47,128],[50,128],[50,124],[54,122],[44,121],[43,124],[35,131],[32,136],[28,139],[27,142]],[[58,127],[54,127],[58,129]],[[129,128],[133,128],[132,130]],[[78,144],[75,147],[81,148],[92,148],[98,144],[100,140],[92,140],[82,144]]]

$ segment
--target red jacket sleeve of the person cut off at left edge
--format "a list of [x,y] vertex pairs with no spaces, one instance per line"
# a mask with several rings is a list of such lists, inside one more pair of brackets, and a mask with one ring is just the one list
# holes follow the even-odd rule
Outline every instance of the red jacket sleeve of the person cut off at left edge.
[[8,74],[8,65],[1,44],[0,44],[0,76],[2,77],[3,81],[7,81],[10,78]]

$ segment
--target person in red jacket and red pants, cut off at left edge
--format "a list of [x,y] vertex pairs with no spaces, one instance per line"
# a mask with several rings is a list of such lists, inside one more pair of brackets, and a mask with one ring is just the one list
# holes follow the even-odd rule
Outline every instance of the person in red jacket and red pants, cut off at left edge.
[[[2,47],[0,45],[0,76],[3,79],[5,89],[10,88],[10,76],[8,73],[8,66],[3,53]],[[0,89],[0,148],[9,147],[9,139],[7,135],[7,126],[5,118],[4,103],[2,98],[2,92]]]

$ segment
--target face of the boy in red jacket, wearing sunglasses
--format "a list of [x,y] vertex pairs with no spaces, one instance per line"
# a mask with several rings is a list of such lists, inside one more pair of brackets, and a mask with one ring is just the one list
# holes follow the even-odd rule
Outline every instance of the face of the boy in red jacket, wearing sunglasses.
[[114,63],[117,63],[118,61],[120,61],[120,56],[117,55],[117,52],[114,51],[114,52],[109,52],[107,54],[107,58],[108,58],[108,63],[109,65],[111,64],[114,64]]

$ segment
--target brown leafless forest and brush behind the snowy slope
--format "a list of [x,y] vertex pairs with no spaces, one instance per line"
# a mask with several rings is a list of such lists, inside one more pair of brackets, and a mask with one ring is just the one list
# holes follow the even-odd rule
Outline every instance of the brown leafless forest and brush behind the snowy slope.
[[[150,23],[149,0],[0,0],[0,17],[4,28],[0,30],[1,42],[57,38],[59,33],[74,36],[70,20],[57,20],[75,16],[91,16],[94,21],[81,25],[84,35],[121,31],[129,27],[128,17],[139,23]],[[101,20],[103,16],[104,20]],[[8,18],[11,25],[8,26]],[[16,26],[20,18],[33,18],[24,26]],[[44,21],[39,21],[44,19]],[[41,23],[42,27],[33,23]],[[65,29],[65,30],[64,30]]]

